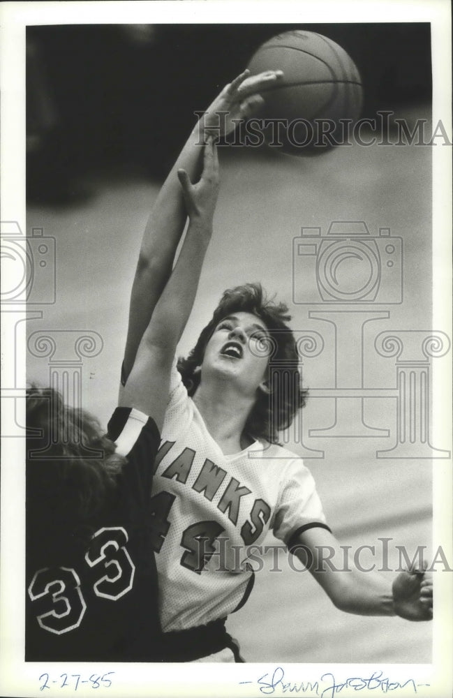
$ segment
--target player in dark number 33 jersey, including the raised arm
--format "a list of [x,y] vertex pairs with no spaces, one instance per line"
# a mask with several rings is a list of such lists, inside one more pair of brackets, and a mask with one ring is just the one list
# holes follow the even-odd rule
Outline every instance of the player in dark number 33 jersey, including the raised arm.
[[[161,659],[151,480],[174,350],[211,237],[212,138],[200,169],[198,184],[178,172],[186,238],[168,283],[155,292],[107,435],[53,389],[27,390],[27,661]],[[151,214],[149,226],[159,222]]]

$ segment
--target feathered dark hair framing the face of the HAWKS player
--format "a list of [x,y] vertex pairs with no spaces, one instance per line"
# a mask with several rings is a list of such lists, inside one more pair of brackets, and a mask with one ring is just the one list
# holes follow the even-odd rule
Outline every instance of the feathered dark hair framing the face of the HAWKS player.
[[278,443],[278,433],[292,423],[297,410],[305,404],[307,391],[302,388],[299,356],[294,335],[286,325],[291,316],[288,306],[266,296],[260,283],[246,283],[223,293],[212,319],[202,330],[188,357],[178,360],[177,368],[189,396],[200,383],[205,349],[214,329],[223,318],[235,312],[253,313],[265,323],[270,339],[267,385],[269,394],[258,390],[255,405],[246,422],[245,431],[253,438]]

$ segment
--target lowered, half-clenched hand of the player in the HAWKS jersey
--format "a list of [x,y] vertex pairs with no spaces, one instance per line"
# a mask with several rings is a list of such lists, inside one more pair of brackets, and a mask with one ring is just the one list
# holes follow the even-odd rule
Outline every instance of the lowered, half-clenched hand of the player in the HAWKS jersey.
[[424,570],[411,567],[400,572],[392,584],[394,610],[406,621],[431,621],[433,617],[433,578]]

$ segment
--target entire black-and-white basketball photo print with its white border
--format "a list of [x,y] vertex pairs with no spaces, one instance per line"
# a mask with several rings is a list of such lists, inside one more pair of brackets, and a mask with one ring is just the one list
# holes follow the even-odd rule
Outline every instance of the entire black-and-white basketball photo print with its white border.
[[433,25],[174,7],[25,27],[26,211],[1,223],[22,661],[40,690],[73,662],[104,691],[103,666],[196,662],[219,685],[262,664],[235,695],[434,697]]

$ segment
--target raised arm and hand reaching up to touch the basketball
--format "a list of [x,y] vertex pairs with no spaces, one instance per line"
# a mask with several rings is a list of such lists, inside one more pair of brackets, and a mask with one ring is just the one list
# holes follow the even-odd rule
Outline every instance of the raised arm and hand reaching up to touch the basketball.
[[248,117],[262,103],[258,94],[260,89],[280,77],[281,71],[249,77],[246,70],[228,84],[198,120],[165,179],[144,230],[133,281],[124,352],[126,378],[158,297],[170,276],[174,253],[186,224],[186,205],[177,181],[177,171],[184,169],[191,181],[195,181],[200,176],[200,143],[204,142],[205,136],[230,133],[236,126],[235,119]]

